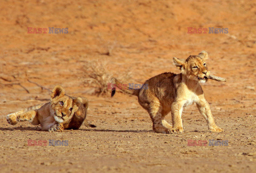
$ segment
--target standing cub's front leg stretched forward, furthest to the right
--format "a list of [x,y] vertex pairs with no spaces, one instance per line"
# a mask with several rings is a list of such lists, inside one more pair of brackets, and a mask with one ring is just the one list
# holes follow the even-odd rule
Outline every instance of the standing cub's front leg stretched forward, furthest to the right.
[[209,130],[211,131],[217,131],[217,132],[222,132],[224,131],[222,128],[218,127],[215,124],[214,118],[212,116],[212,111],[210,108],[209,103],[205,100],[204,97],[202,97],[198,103],[196,103],[197,108],[199,110],[199,112],[204,116],[204,118],[207,121],[207,125]]

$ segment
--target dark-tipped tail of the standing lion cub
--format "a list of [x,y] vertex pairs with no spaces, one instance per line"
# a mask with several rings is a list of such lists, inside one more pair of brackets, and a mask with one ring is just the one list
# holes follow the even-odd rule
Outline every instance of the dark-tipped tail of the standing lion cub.
[[113,84],[112,85],[111,97],[113,97],[115,95],[116,87],[121,89],[126,94],[139,96],[140,89],[133,89],[133,88],[127,87],[127,85],[124,85],[124,84],[120,83],[116,78],[111,79],[111,84]]

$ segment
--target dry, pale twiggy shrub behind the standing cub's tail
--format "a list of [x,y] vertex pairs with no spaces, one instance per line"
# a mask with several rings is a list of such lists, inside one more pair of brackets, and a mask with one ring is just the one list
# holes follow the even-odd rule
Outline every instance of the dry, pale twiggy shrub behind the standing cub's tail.
[[131,71],[121,72],[118,70],[118,73],[116,72],[115,75],[112,75],[107,69],[106,61],[93,60],[86,61],[84,64],[82,69],[84,84],[93,87],[94,89],[91,93],[97,96],[104,96],[111,93],[108,85],[112,77],[116,77],[118,80],[125,81],[126,83],[131,79]]

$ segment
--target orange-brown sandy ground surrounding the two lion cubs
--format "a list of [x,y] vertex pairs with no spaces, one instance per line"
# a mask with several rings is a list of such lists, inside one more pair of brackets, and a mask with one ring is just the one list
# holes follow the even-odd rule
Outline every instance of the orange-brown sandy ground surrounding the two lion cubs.
[[[1,1],[1,172],[256,172],[255,14],[255,1]],[[68,34],[28,34],[27,27],[68,28]],[[228,34],[187,34],[188,27],[228,28]],[[223,133],[211,133],[195,105],[183,112],[183,134],[153,133],[136,97],[90,94],[80,70],[99,60],[111,75],[130,73],[127,83],[142,84],[178,73],[173,56],[202,50],[209,52],[209,69],[227,78],[203,86]],[[87,120],[97,128],[49,133],[29,122],[9,125],[7,114],[50,98],[28,80],[87,97]],[[29,139],[47,146],[29,146]],[[188,146],[190,139],[228,146]]]

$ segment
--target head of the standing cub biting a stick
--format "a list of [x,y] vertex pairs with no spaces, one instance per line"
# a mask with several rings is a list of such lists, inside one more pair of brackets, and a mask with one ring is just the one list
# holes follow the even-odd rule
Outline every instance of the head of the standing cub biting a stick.
[[176,67],[181,70],[181,73],[185,74],[189,80],[205,83],[208,80],[206,76],[210,75],[210,71],[205,63],[207,58],[207,52],[202,51],[198,55],[190,55],[187,60],[173,57],[173,61]]

